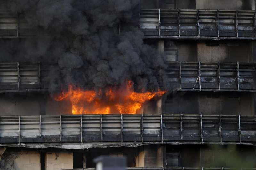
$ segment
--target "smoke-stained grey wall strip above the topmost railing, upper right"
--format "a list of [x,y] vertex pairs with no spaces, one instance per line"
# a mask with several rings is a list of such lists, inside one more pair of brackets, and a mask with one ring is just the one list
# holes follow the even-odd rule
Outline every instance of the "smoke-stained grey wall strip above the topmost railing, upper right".
[[254,0],[196,0],[197,9],[255,10]]

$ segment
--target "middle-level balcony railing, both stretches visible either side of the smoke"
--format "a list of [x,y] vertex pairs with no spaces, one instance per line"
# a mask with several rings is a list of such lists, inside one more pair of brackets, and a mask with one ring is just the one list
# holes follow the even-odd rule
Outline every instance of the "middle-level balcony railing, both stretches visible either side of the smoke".
[[[256,63],[167,63],[174,91],[256,92]],[[47,91],[49,63],[0,63],[0,92]]]

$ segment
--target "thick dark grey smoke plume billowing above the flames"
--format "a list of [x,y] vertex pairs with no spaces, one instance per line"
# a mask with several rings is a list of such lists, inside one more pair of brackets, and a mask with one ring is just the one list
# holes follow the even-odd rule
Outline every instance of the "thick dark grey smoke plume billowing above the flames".
[[140,0],[13,0],[7,5],[37,31],[36,38],[0,40],[0,62],[58,63],[51,70],[51,92],[70,84],[97,90],[127,80],[140,92],[168,89],[162,56],[131,26],[138,25]]

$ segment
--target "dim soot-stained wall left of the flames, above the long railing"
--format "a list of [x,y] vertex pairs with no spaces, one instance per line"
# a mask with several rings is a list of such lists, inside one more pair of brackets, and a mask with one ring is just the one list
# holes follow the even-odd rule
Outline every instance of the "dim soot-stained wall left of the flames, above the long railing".
[[68,101],[57,102],[38,92],[0,93],[1,115],[58,115],[71,114]]

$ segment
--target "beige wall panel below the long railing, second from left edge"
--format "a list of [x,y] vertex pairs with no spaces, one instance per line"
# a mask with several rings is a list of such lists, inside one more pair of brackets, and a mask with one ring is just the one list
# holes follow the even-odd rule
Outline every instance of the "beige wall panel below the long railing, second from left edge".
[[73,169],[73,153],[47,152],[45,163],[46,170]]

